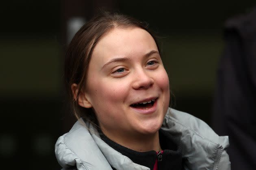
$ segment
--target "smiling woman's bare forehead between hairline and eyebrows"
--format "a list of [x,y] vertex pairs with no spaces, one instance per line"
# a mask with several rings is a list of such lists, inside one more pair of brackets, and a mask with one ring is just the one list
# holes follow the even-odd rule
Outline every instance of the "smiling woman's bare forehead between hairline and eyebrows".
[[152,50],[158,51],[154,38],[146,30],[137,27],[114,28],[100,38],[91,60],[144,55]]

